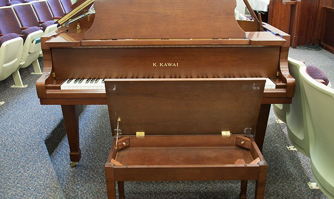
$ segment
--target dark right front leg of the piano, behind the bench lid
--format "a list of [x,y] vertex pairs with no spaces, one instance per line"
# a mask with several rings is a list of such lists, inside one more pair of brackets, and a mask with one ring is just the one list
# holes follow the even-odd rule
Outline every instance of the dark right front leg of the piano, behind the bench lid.
[[266,134],[270,106],[271,104],[261,104],[260,113],[257,118],[254,140],[260,151],[262,151],[264,136]]

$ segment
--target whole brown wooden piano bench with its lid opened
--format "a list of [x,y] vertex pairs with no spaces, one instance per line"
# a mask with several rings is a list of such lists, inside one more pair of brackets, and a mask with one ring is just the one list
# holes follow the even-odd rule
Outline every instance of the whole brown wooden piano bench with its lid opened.
[[107,79],[114,139],[105,165],[109,199],[124,181],[256,180],[268,165],[252,138],[264,78]]

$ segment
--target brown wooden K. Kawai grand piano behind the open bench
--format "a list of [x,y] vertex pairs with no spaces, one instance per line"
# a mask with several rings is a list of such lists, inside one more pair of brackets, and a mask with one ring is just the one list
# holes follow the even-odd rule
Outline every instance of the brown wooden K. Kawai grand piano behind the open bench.
[[[87,11],[92,0],[82,2],[80,11]],[[95,13],[70,12],[41,38],[37,95],[42,105],[61,105],[72,165],[81,158],[78,105],[107,104],[105,78],[267,78],[274,86],[264,89],[254,133],[262,148],[271,104],[291,103],[294,95],[290,35],[254,13],[253,21],[235,20],[235,0],[95,0],[93,6]]]

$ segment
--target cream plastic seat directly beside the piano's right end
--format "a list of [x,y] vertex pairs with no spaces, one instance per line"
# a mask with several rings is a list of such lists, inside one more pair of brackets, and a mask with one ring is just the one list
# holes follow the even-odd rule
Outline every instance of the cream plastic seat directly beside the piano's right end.
[[296,80],[295,94],[291,104],[274,104],[274,113],[286,123],[290,142],[303,154],[309,155],[308,130],[310,119],[305,110],[304,88],[299,69],[306,67],[301,61],[288,58],[289,72]]

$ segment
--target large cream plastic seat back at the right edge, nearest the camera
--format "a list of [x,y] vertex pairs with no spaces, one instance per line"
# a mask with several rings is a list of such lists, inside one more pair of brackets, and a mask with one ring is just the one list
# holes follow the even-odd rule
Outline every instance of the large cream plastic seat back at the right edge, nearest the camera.
[[309,115],[309,152],[312,173],[320,190],[334,198],[334,89],[323,85],[300,68],[305,91],[305,110]]

